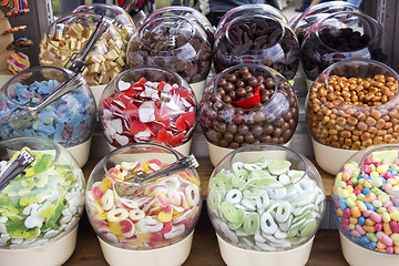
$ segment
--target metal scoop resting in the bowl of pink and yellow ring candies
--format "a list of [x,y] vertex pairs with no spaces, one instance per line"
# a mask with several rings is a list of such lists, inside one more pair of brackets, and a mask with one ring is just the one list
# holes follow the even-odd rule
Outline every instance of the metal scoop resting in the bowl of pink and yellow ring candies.
[[150,174],[145,173],[144,171],[135,171],[132,173],[131,176],[124,178],[123,182],[114,183],[114,191],[120,197],[129,196],[129,195],[140,195],[142,194],[143,190],[135,184],[143,184],[154,180],[157,180],[163,176],[167,176],[170,174],[174,174],[177,172],[182,172],[185,168],[196,168],[198,167],[198,162],[194,157],[194,155],[190,155],[187,157],[183,157],[177,160],[173,164],[161,168],[158,171],[152,172]]

